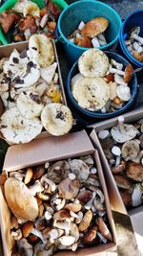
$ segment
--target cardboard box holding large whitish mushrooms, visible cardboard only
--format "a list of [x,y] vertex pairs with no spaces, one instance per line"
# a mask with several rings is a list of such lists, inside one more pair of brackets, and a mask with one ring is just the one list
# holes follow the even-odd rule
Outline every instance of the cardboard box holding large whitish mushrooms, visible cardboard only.
[[[63,104],[67,105],[66,95],[65,95],[65,91],[64,91],[64,85],[63,85],[63,81],[62,81],[62,76],[61,76],[61,71],[60,71],[60,66],[59,66],[59,61],[58,61],[58,56],[57,56],[54,40],[52,40],[52,43],[53,43],[53,48],[54,48],[55,60],[57,62],[57,71],[58,71],[58,75],[59,75],[59,84],[60,84],[61,92],[62,92],[62,96],[63,96]],[[19,53],[21,53],[23,50],[28,49],[28,46],[29,46],[29,42],[28,41],[26,41],[26,42],[19,42],[19,43],[11,43],[9,45],[0,46],[0,59],[1,58],[5,58],[5,57],[9,58],[11,52],[14,49],[16,49]],[[0,109],[2,108],[1,104],[2,103],[0,101]],[[1,113],[1,111],[0,111],[0,113]],[[39,134],[37,136],[37,138],[44,138],[44,137],[48,137],[48,136],[50,136],[49,132],[43,131],[41,134]],[[0,133],[0,137],[4,138],[1,133]]]

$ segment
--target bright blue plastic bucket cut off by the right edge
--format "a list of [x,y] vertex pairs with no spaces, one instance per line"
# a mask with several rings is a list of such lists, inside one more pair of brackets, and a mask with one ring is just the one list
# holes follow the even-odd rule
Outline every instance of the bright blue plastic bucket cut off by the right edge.
[[119,42],[121,49],[124,55],[137,67],[143,67],[143,62],[138,61],[136,58],[133,58],[131,53],[128,51],[127,46],[125,45],[125,40],[128,37],[129,32],[134,26],[139,26],[140,36],[143,36],[143,10],[133,12],[130,14],[123,22],[119,34]]

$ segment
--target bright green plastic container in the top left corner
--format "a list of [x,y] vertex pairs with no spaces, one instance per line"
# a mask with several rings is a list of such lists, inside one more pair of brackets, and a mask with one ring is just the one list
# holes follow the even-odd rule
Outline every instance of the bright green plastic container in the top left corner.
[[[40,9],[44,8],[44,0],[31,0],[32,2],[36,3]],[[17,0],[8,0],[1,8],[0,13],[4,12],[5,10],[12,9],[13,6],[18,2]],[[52,2],[61,10],[63,11],[65,8],[68,7],[68,4],[64,0],[52,0]],[[12,35],[9,33],[6,35],[1,27],[0,27],[0,41],[2,44],[9,44],[11,43]]]

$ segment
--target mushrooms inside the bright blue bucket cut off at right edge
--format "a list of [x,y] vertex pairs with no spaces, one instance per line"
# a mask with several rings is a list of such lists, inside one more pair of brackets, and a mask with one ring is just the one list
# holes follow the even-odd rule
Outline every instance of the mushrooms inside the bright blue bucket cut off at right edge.
[[125,44],[133,58],[143,62],[143,37],[140,36],[140,27],[133,27],[125,40]]

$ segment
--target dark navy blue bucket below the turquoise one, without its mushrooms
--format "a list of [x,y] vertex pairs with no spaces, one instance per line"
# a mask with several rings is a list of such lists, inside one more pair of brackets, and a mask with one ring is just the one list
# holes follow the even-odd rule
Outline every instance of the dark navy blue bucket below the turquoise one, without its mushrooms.
[[[115,53],[111,53],[111,52],[105,52],[107,54],[107,56],[109,58],[113,58],[116,61],[123,63],[124,67],[127,66],[129,64],[129,62],[115,54]],[[74,97],[72,96],[72,89],[71,89],[71,81],[72,81],[72,77],[74,77],[77,73],[79,73],[78,70],[78,61],[76,61],[73,65],[72,65],[72,69],[69,72],[68,75],[68,81],[67,81],[67,92],[70,98],[70,101],[72,102],[72,105],[79,110],[82,114],[86,115],[87,117],[90,118],[111,118],[117,115],[122,114],[123,112],[125,112],[127,109],[129,109],[133,103],[135,103],[135,99],[137,97],[137,92],[138,92],[138,85],[137,85],[137,79],[136,79],[136,75],[135,73],[133,73],[133,78],[132,80],[129,82],[129,86],[131,88],[131,93],[132,93],[132,97],[130,99],[129,102],[127,102],[125,105],[123,105],[123,107],[121,109],[117,109],[114,112],[111,113],[100,113],[100,112],[93,112],[91,110],[88,110],[86,108],[81,107],[80,105],[77,104],[77,102],[75,101]]]

